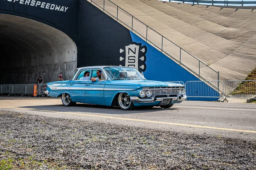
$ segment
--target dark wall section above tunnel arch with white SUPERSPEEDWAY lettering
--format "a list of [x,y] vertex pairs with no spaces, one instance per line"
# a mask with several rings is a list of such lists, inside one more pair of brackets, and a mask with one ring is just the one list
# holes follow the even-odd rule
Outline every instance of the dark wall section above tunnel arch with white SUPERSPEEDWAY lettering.
[[[78,0],[39,0],[44,5],[40,4],[38,6],[31,6],[29,3],[24,4],[26,0],[19,0],[9,2],[7,0],[0,0],[0,14],[10,14],[19,17],[29,18],[41,23],[45,23],[49,26],[57,28],[58,30],[67,34],[75,43],[77,42],[77,32],[78,32]],[[20,4],[23,3],[23,4]],[[31,0],[32,2],[32,0]],[[54,4],[53,10],[50,9],[51,6],[47,6],[47,3]],[[42,8],[42,7],[43,8]],[[61,11],[61,7],[63,11]],[[52,6],[53,7],[53,6]],[[65,7],[67,8],[65,11]],[[56,9],[56,10],[55,10]]]

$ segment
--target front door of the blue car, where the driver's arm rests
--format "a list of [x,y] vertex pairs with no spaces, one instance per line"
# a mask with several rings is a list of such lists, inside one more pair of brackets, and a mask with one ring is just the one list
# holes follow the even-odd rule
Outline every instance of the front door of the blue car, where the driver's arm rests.
[[[101,69],[91,70],[92,76],[96,77],[96,71]],[[102,71],[102,70],[101,70]],[[105,77],[102,72],[102,78]],[[105,105],[104,99],[104,87],[107,80],[102,79],[101,81],[93,82],[91,80],[85,83],[85,103],[95,104],[95,105]]]

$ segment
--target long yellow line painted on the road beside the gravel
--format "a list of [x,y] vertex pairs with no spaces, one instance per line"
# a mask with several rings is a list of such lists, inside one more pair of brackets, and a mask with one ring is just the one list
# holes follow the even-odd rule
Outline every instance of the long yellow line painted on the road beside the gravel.
[[[14,108],[14,107],[3,107],[3,108]],[[33,111],[47,111],[47,110],[38,110],[38,109],[32,109],[32,108],[14,108],[14,109],[33,110]],[[122,117],[100,116],[100,115],[71,113],[71,112],[60,112],[60,111],[47,111],[47,112],[65,113],[65,114],[74,114],[74,115],[83,115],[83,116],[93,116],[93,117],[103,117],[103,118],[110,118],[110,119],[122,119],[122,120],[138,121],[138,122],[150,122],[150,123],[159,123],[159,124],[166,124],[166,125],[178,125],[178,126],[200,127],[200,128],[217,129],[217,130],[229,130],[229,131],[236,131],[236,132],[256,133],[256,131],[253,131],[253,130],[240,130],[240,129],[229,129],[229,128],[222,128],[222,127],[186,125],[186,124],[180,124],[180,123],[158,122],[158,121],[152,121],[152,120],[130,119],[130,118],[122,118]]]

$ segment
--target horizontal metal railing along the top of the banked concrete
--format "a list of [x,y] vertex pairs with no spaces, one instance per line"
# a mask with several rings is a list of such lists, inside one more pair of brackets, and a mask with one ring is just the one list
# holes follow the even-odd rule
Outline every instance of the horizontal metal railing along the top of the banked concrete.
[[[160,0],[165,1],[165,0]],[[193,3],[193,4],[211,4],[211,5],[222,5],[224,6],[233,6],[233,5],[241,5],[244,6],[244,4],[256,4],[256,1],[220,1],[220,0],[169,0],[169,2],[182,2],[182,3]]]

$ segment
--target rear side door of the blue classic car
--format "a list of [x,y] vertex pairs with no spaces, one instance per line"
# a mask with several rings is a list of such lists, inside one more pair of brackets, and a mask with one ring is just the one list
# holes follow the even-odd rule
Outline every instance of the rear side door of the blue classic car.
[[84,73],[88,70],[81,70],[78,76],[70,82],[69,92],[71,95],[71,99],[73,102],[85,102],[85,82],[88,79],[82,79],[84,77]]

